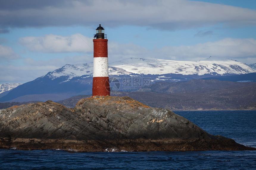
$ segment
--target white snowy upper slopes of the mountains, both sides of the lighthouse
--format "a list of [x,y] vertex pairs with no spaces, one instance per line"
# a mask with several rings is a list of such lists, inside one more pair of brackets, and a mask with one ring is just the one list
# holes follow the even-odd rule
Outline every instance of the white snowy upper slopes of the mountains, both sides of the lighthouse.
[[[205,75],[223,76],[230,74],[246,74],[256,72],[248,65],[234,61],[229,58],[210,57],[199,61],[174,61],[163,59],[127,58],[113,63],[109,63],[109,75],[162,75],[162,74],[182,74],[182,75]],[[63,77],[70,81],[75,77],[84,79],[93,75],[93,63],[86,64],[66,64],[60,69],[47,73],[43,77],[54,80]]]

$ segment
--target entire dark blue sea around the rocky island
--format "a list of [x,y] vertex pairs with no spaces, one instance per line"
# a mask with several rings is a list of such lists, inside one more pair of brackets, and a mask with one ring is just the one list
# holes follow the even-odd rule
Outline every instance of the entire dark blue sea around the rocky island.
[[[175,111],[210,134],[256,147],[256,111]],[[68,152],[0,150],[0,169],[256,169],[256,151]]]

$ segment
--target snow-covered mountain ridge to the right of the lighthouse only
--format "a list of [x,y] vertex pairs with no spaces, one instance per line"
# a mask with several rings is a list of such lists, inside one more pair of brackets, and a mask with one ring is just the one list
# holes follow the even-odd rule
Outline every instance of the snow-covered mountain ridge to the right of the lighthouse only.
[[[174,61],[162,59],[127,58],[110,63],[109,74],[182,74],[182,75],[227,75],[256,72],[244,63],[228,58],[210,57],[199,61]],[[116,67],[122,70],[113,70]],[[126,74],[127,74],[126,73]]]

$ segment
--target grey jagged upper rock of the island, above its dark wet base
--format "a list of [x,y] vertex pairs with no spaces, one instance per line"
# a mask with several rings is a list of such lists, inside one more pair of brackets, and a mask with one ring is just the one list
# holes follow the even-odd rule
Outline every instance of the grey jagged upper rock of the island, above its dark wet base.
[[75,108],[46,101],[0,110],[0,137],[65,140],[216,138],[168,109],[94,96]]

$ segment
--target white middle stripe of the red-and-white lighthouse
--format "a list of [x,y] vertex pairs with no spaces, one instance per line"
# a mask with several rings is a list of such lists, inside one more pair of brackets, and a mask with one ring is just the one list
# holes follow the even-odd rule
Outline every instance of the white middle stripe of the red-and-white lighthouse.
[[108,77],[107,57],[93,58],[93,77]]

